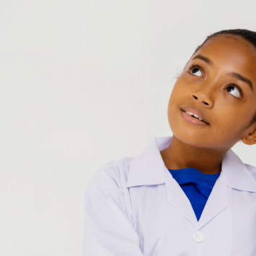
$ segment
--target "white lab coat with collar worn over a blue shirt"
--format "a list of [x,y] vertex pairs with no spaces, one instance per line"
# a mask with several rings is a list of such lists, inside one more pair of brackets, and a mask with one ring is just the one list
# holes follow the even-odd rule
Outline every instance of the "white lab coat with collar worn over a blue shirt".
[[84,196],[83,256],[256,255],[256,168],[227,151],[197,221],[159,153],[171,140],[97,171]]

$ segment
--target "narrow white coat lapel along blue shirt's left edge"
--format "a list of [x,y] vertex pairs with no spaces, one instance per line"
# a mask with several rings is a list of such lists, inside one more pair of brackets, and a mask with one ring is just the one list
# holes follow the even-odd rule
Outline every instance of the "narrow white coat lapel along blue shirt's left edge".
[[177,211],[180,211],[193,226],[196,226],[198,220],[196,219],[190,200],[187,198],[187,195],[185,195],[177,181],[169,173],[168,169],[166,169],[165,180],[167,202],[176,208]]

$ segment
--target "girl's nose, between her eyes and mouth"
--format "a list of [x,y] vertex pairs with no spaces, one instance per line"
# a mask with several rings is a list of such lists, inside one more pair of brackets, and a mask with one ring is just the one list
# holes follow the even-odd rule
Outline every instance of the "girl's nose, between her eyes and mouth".
[[190,94],[190,98],[195,101],[199,105],[204,105],[205,107],[211,108],[213,107],[213,92],[211,89],[203,89],[194,91]]

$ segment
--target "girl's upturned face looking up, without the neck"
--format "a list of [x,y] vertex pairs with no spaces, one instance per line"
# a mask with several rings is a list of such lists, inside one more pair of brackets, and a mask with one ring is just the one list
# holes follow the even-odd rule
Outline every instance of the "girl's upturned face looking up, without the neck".
[[[168,119],[175,137],[191,146],[228,150],[254,130],[256,124],[248,124],[256,112],[255,52],[246,40],[221,35],[190,58],[169,99]],[[184,109],[199,110],[208,124],[193,123],[199,120]]]

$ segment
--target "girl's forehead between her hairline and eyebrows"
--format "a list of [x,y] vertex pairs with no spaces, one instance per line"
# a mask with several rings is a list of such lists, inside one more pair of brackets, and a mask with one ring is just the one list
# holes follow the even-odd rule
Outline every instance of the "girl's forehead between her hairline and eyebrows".
[[219,65],[222,70],[236,69],[236,71],[250,73],[250,75],[256,73],[256,48],[240,36],[213,37],[206,41],[194,56],[197,54],[210,58],[213,64]]

